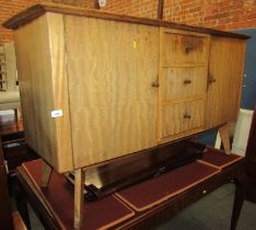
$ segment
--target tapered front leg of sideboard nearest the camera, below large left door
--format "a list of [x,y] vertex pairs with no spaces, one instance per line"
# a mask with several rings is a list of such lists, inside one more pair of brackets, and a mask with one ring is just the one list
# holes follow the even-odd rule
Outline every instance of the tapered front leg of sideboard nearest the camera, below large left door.
[[79,230],[83,222],[83,198],[84,198],[85,172],[82,169],[74,171],[74,229]]

